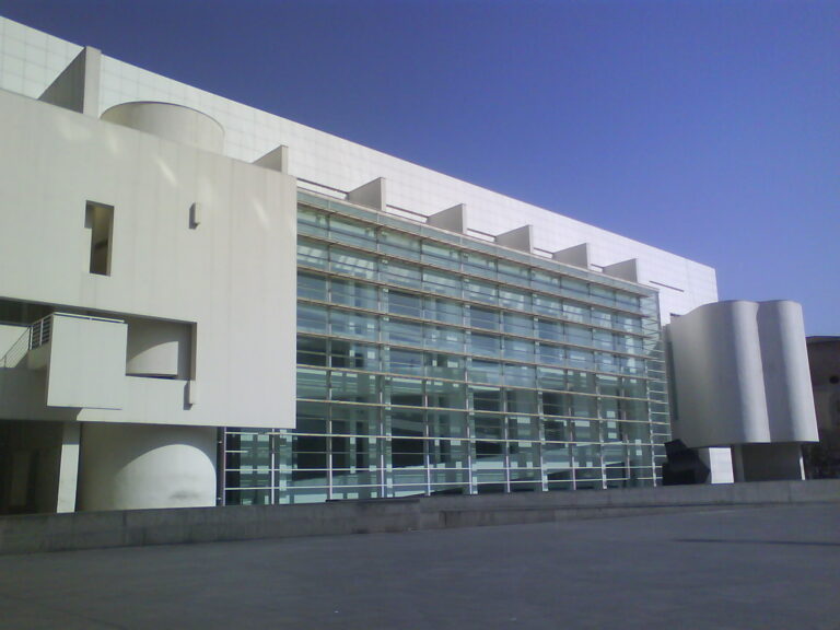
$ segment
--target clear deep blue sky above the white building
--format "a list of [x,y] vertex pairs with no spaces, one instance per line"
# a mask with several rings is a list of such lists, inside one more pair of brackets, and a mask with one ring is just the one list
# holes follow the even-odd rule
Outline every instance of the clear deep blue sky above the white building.
[[0,0],[0,15],[718,269],[840,335],[840,1]]

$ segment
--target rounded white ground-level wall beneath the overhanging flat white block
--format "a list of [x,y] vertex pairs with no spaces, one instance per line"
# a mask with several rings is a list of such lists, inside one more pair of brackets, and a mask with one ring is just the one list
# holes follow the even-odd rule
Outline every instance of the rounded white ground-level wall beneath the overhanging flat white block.
[[215,505],[217,430],[84,423],[80,510]]

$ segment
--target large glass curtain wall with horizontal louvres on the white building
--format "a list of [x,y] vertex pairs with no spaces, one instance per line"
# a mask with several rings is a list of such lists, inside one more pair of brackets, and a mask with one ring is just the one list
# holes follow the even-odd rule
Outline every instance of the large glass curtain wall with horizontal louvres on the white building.
[[299,192],[294,430],[225,431],[228,504],[658,483],[656,292]]

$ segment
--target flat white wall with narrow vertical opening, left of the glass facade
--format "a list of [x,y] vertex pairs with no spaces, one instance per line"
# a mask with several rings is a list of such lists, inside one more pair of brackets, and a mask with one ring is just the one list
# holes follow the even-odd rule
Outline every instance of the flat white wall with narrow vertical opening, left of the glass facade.
[[[121,410],[79,420],[294,424],[292,177],[8,92],[0,137],[0,296],[196,327],[198,404],[183,382],[131,383]],[[89,272],[88,201],[114,207],[109,276]],[[0,418],[55,417],[24,397]]]

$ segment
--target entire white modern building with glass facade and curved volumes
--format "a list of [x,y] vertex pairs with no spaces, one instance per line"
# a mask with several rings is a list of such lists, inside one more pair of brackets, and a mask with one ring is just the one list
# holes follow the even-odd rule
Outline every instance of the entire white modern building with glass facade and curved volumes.
[[658,485],[672,315],[678,436],[801,477],[792,303],[3,19],[0,89],[0,513]]

